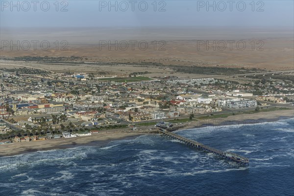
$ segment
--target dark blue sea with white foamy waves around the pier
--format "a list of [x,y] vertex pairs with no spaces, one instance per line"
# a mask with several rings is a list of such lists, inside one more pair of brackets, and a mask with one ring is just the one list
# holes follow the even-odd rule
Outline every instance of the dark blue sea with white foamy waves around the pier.
[[160,135],[2,157],[0,196],[293,196],[293,121],[176,132],[249,167]]

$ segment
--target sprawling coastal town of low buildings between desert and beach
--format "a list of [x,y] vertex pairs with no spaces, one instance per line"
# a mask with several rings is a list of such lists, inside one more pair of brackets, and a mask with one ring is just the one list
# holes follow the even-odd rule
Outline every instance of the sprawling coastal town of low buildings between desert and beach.
[[[292,72],[227,77],[0,68],[0,144],[159,128],[293,108]],[[282,78],[281,78],[282,76]]]

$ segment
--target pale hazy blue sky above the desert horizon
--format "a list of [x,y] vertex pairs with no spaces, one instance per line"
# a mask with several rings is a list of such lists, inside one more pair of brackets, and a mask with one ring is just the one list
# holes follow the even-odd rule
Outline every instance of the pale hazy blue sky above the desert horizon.
[[[0,27],[294,26],[293,0],[253,2],[216,0],[208,7],[206,0],[119,0],[111,1],[116,6],[110,7],[108,0],[67,0],[58,1],[57,7],[56,0],[19,0],[13,1],[14,6],[10,0],[0,0]],[[63,7],[68,11],[61,11]]]

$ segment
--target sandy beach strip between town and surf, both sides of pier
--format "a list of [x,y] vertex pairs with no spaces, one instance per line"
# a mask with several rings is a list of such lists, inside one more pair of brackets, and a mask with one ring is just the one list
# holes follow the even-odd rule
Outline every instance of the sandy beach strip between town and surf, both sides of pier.
[[[248,125],[263,122],[275,122],[281,119],[293,118],[293,110],[286,111],[272,111],[255,113],[255,114],[239,114],[229,116],[226,118],[211,118],[198,121],[190,121],[183,123],[185,127],[177,129],[176,131],[182,131],[187,129],[197,129],[203,127],[219,127],[219,126],[233,126],[233,125]],[[152,127],[152,126],[150,126]],[[148,130],[150,127],[146,127]],[[8,157],[25,153],[32,153],[37,151],[46,151],[54,149],[66,149],[76,146],[105,146],[114,140],[133,139],[138,136],[154,134],[148,131],[144,132],[123,132],[118,130],[101,131],[100,133],[93,134],[91,136],[76,137],[76,138],[60,138],[44,141],[29,141],[18,142],[12,144],[0,145],[0,157]],[[36,145],[39,144],[39,145]]]

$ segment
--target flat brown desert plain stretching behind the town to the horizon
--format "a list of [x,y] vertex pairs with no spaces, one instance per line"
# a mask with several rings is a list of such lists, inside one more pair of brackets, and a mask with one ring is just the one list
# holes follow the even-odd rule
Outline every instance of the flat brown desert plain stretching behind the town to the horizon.
[[[85,62],[119,62],[127,64],[150,62],[163,65],[244,67],[267,70],[289,70],[293,69],[294,65],[293,29],[281,29],[278,31],[256,28],[249,31],[237,28],[90,28],[24,29],[22,33],[17,32],[16,29],[11,28],[1,29],[1,59],[16,56],[75,56],[79,57],[78,60]],[[9,45],[3,46],[3,40],[9,41]],[[20,50],[17,50],[17,47],[10,47],[11,40],[13,43],[20,41]],[[34,50],[33,44],[31,44],[29,50],[24,50],[21,46],[24,40],[29,42],[37,40],[39,43],[46,40],[51,45],[48,50],[43,50],[40,48],[40,44],[37,44]],[[66,42],[62,43],[64,40]],[[137,44],[133,45],[133,49],[132,40],[137,41]],[[58,47],[56,42],[53,44],[54,41],[58,42]],[[115,41],[117,41],[117,44],[115,44]],[[144,42],[141,48],[138,46],[140,41]],[[145,41],[148,43],[147,47]],[[156,44],[154,41],[156,41]],[[206,47],[207,41],[210,45],[208,48]],[[111,46],[109,49],[109,42],[116,46]],[[224,42],[226,46],[223,44]],[[127,49],[125,49],[125,43],[127,43]],[[239,43],[238,46],[237,43]],[[244,46],[243,43],[246,45]],[[25,44],[23,47],[26,47]],[[79,67],[78,64],[75,67],[65,65],[45,66],[52,71],[68,69],[72,71],[97,71],[97,69],[102,69],[118,74],[120,70],[124,70],[125,73],[128,73],[128,69],[142,71],[142,67],[138,67],[137,70],[133,66],[116,67],[115,69],[113,66],[98,68],[93,65],[83,65]],[[148,69],[144,68],[145,71],[148,71]]]

